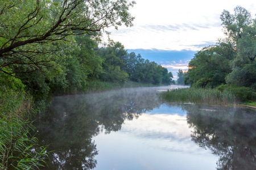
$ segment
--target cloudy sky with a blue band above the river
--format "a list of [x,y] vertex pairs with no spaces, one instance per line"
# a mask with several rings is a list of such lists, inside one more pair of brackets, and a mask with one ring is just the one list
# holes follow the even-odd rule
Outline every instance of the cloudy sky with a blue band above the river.
[[224,38],[220,15],[223,10],[233,14],[242,6],[255,16],[255,0],[135,0],[130,9],[135,17],[133,27],[109,28],[110,39],[119,41],[128,52],[141,54],[155,61],[173,75],[187,70],[188,62],[204,46]]

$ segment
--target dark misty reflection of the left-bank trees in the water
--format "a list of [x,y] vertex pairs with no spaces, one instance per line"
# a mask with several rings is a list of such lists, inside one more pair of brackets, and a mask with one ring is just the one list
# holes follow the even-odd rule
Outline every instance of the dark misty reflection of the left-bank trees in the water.
[[98,154],[92,137],[117,131],[125,120],[160,106],[155,91],[132,88],[89,95],[54,97],[36,123],[40,145],[53,151],[42,169],[93,169]]

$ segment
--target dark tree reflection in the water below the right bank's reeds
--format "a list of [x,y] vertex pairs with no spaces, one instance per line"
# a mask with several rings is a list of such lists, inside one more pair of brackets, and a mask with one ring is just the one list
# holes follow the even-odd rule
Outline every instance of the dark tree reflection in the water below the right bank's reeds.
[[256,169],[256,115],[251,109],[181,105],[192,140],[218,155],[217,169]]

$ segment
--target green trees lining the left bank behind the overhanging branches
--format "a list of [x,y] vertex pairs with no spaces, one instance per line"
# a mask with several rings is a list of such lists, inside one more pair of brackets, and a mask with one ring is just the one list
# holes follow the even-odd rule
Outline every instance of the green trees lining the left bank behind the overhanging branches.
[[[89,35],[74,37],[76,44],[61,54],[56,54],[52,66],[29,71],[24,66],[7,66],[5,70],[15,70],[15,77],[0,72],[2,86],[27,88],[36,94],[74,94],[86,92],[92,82],[123,84],[133,81],[145,84],[169,85],[174,83],[172,73],[156,62],[143,59],[140,54],[128,53],[120,42],[110,41],[99,47]],[[43,59],[43,58],[42,58]],[[18,78],[18,79],[16,79]],[[16,84],[21,80],[20,84]]]

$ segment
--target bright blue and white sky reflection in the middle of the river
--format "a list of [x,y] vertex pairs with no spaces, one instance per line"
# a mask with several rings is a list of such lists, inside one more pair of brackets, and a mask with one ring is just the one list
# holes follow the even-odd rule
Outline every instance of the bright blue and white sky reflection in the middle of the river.
[[217,157],[191,141],[180,108],[161,105],[93,139],[99,151],[95,169],[216,169]]

